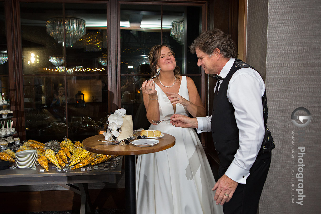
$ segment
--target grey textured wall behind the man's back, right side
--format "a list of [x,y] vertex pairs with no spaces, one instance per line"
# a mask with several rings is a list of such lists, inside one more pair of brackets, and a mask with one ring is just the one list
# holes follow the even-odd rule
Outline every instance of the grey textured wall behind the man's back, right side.
[[[276,146],[259,213],[320,213],[321,1],[247,2],[247,63],[265,75],[268,127]],[[298,107],[311,113],[305,128],[291,121],[291,113]],[[307,113],[299,111],[296,115]],[[305,148],[302,159],[298,147]],[[303,161],[302,168],[299,161]],[[297,174],[302,169],[303,182],[294,177],[291,183],[292,170]],[[305,195],[303,205],[296,203],[302,201],[297,189]]]

